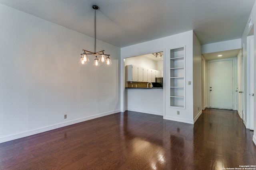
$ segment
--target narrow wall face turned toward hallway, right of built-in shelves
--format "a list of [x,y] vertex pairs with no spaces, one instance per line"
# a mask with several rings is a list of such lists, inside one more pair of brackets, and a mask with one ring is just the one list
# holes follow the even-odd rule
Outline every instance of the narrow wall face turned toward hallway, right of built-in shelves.
[[202,113],[202,54],[201,44],[193,31],[193,119]]

